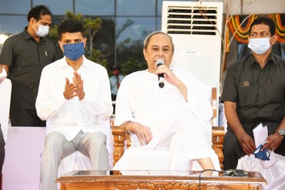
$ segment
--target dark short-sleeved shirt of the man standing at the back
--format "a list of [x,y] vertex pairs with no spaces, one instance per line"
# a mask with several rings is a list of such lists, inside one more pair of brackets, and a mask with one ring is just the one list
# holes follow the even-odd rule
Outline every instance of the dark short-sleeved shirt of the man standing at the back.
[[46,38],[36,42],[27,27],[5,41],[0,63],[9,65],[12,109],[36,109],[41,70],[55,60],[58,57],[54,44]]

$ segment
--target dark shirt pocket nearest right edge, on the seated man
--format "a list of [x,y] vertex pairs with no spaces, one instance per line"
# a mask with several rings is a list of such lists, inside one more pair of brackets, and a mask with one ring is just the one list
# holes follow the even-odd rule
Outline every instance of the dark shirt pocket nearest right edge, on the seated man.
[[281,103],[285,101],[285,85],[270,83],[267,90],[267,101]]

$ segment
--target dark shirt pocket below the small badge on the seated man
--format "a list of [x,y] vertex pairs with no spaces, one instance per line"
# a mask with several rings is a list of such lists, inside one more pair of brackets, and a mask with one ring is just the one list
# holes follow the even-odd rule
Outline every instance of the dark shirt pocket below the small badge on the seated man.
[[239,105],[248,106],[253,105],[256,98],[254,95],[254,86],[239,87]]

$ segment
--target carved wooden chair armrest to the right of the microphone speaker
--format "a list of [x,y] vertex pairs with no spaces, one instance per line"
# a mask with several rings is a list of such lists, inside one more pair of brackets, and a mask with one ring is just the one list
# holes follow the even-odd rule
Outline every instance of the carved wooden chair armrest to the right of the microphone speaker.
[[219,158],[219,166],[223,169],[224,154],[222,149],[224,147],[224,127],[212,126],[212,143],[212,149],[214,149]]

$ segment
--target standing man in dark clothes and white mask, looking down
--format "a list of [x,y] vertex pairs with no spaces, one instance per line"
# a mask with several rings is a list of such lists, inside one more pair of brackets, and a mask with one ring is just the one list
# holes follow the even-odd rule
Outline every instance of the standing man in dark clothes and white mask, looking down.
[[0,64],[11,79],[12,126],[45,127],[46,122],[36,115],[36,95],[41,70],[58,60],[56,47],[45,38],[51,25],[51,11],[35,6],[28,12],[28,26],[23,32],[8,38],[1,51]]

